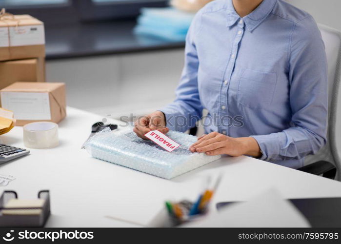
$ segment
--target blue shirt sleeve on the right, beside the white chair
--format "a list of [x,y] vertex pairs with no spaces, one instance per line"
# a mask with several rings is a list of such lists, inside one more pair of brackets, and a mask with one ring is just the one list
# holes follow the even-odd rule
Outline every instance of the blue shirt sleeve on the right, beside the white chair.
[[327,141],[327,61],[321,33],[312,17],[294,26],[288,55],[291,127],[252,136],[265,161],[301,159],[317,153]]

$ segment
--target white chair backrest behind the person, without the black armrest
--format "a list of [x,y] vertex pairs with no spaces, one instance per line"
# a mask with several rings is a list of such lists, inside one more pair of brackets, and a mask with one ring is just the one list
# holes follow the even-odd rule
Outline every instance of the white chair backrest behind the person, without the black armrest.
[[337,169],[337,180],[341,181],[341,162],[336,146],[336,115],[341,78],[341,32],[319,24],[324,41],[328,63],[328,142],[316,154],[305,158],[305,164],[324,160],[333,163]]

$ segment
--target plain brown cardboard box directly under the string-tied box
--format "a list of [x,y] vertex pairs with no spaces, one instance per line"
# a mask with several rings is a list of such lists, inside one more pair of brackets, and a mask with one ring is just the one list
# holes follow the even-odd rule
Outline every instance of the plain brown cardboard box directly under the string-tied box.
[[38,58],[2,61],[0,74],[0,89],[17,81],[45,82],[45,60]]

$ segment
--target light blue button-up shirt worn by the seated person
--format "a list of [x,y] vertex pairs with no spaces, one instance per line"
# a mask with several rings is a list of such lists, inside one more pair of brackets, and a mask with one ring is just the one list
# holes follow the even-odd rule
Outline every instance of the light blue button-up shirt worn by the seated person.
[[176,100],[160,109],[167,126],[252,136],[261,160],[302,166],[326,143],[327,67],[314,19],[283,0],[263,0],[241,18],[215,0],[188,31]]

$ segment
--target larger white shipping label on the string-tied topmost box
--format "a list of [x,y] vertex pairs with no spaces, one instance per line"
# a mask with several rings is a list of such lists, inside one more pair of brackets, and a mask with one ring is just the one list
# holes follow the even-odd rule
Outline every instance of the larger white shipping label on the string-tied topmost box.
[[43,45],[45,44],[44,25],[12,26],[9,28],[9,37],[9,46]]

